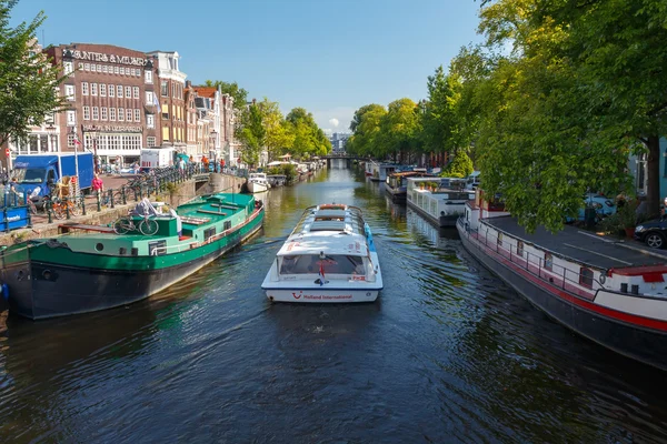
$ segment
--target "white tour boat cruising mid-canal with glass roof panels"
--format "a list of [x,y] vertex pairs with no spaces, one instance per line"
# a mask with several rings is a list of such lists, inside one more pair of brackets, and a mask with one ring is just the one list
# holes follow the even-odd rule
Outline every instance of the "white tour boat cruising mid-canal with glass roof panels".
[[278,302],[375,301],[382,274],[361,210],[344,204],[306,209],[261,287]]

